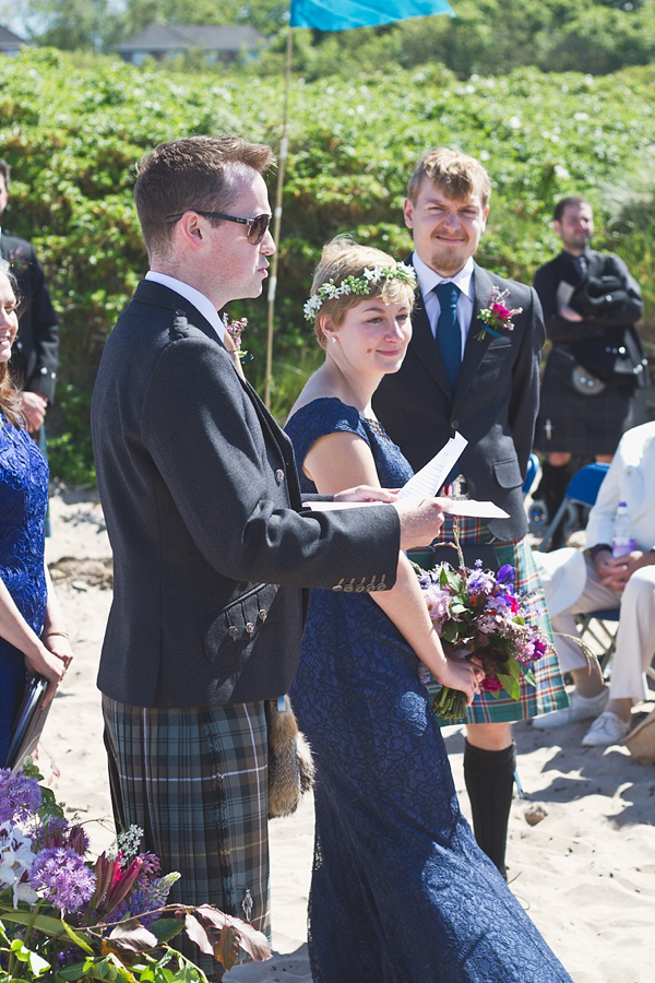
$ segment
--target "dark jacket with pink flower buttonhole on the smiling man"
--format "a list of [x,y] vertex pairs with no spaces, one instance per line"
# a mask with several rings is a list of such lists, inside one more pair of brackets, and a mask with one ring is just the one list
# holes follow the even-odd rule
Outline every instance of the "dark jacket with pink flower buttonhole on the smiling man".
[[[514,330],[500,337],[476,337],[493,286],[509,289],[504,304],[522,307]],[[539,298],[532,287],[474,269],[473,320],[457,389],[451,395],[439,348],[417,289],[413,336],[395,375],[385,376],[373,407],[415,471],[458,430],[468,446],[461,458],[472,498],[489,500],[510,513],[488,523],[499,540],[527,532],[522,484],[539,406],[539,360],[546,334]]]

